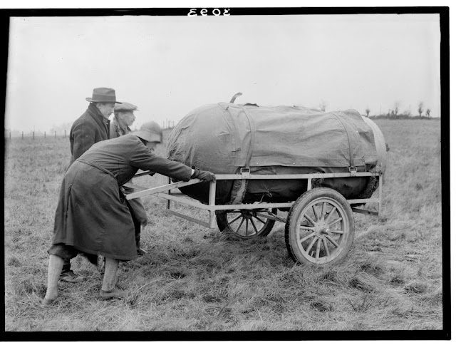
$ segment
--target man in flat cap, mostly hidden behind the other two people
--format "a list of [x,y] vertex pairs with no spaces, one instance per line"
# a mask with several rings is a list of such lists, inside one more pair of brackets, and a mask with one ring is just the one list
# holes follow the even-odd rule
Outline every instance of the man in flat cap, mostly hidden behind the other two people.
[[[130,125],[133,125],[136,119],[133,113],[135,110],[138,110],[138,107],[132,103],[122,102],[115,105],[114,118],[110,123],[110,139],[118,138],[131,132]],[[120,190],[124,194],[135,191],[129,187],[121,187]],[[127,205],[133,218],[133,225],[135,225],[136,251],[138,255],[144,255],[146,251],[140,247],[140,237],[141,226],[145,227],[147,225],[147,213],[139,198],[128,200]]]

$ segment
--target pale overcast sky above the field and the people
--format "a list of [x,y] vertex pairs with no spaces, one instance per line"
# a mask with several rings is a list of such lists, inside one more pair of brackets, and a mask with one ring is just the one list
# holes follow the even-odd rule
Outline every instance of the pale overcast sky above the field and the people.
[[5,128],[73,123],[93,88],[138,105],[139,125],[207,103],[440,116],[438,14],[11,19]]

